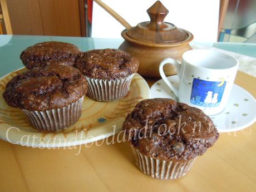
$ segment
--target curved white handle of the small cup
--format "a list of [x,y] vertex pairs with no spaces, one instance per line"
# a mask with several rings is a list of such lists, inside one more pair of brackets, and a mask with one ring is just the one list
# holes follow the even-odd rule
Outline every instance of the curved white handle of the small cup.
[[170,63],[172,65],[174,65],[178,71],[178,77],[179,77],[179,73],[180,73],[180,68],[181,68],[181,64],[178,63],[176,60],[174,60],[173,58],[165,58],[159,65],[159,72],[161,77],[163,78],[164,82],[166,83],[166,85],[168,85],[168,87],[170,87],[170,89],[174,92],[174,95],[179,98],[179,90],[178,88],[174,87],[173,85],[171,85],[170,81],[168,80],[168,78],[166,77],[165,73],[164,73],[164,65]]

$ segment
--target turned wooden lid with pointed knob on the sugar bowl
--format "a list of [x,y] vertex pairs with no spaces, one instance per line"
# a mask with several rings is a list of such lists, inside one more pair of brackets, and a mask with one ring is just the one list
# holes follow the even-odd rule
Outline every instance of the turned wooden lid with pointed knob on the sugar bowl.
[[[164,18],[169,13],[168,9],[160,1],[156,1],[149,9],[150,21],[141,22],[136,27],[125,30],[127,36],[134,41],[144,41],[149,43],[179,43],[193,39],[193,35],[184,30],[177,28],[174,24],[164,22]],[[124,31],[124,32],[125,32]],[[125,38],[125,37],[124,37]]]

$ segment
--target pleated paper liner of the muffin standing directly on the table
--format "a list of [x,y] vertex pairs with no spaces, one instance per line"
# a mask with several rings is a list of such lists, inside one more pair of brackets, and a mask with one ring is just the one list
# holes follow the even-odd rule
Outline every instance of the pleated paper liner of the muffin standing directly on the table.
[[178,179],[190,170],[195,159],[186,162],[164,161],[141,154],[131,145],[136,166],[146,175],[157,179]]

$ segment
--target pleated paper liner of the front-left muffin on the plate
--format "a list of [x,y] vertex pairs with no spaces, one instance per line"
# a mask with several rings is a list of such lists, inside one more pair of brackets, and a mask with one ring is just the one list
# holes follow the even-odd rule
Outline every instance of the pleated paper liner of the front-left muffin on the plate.
[[28,111],[22,110],[32,126],[42,131],[58,131],[75,124],[80,118],[82,104],[85,96],[73,102],[66,107],[46,110],[46,111]]

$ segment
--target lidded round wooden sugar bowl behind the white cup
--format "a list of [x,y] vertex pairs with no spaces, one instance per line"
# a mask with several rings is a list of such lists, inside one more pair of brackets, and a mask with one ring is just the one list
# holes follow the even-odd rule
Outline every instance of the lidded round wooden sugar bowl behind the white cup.
[[[181,61],[183,53],[191,50],[189,42],[193,40],[193,35],[172,23],[164,22],[168,13],[168,9],[157,1],[147,9],[150,22],[139,23],[121,33],[125,41],[119,49],[139,59],[138,72],[144,77],[160,78],[158,68],[164,58]],[[172,65],[166,65],[164,71],[166,76],[177,74]]]

